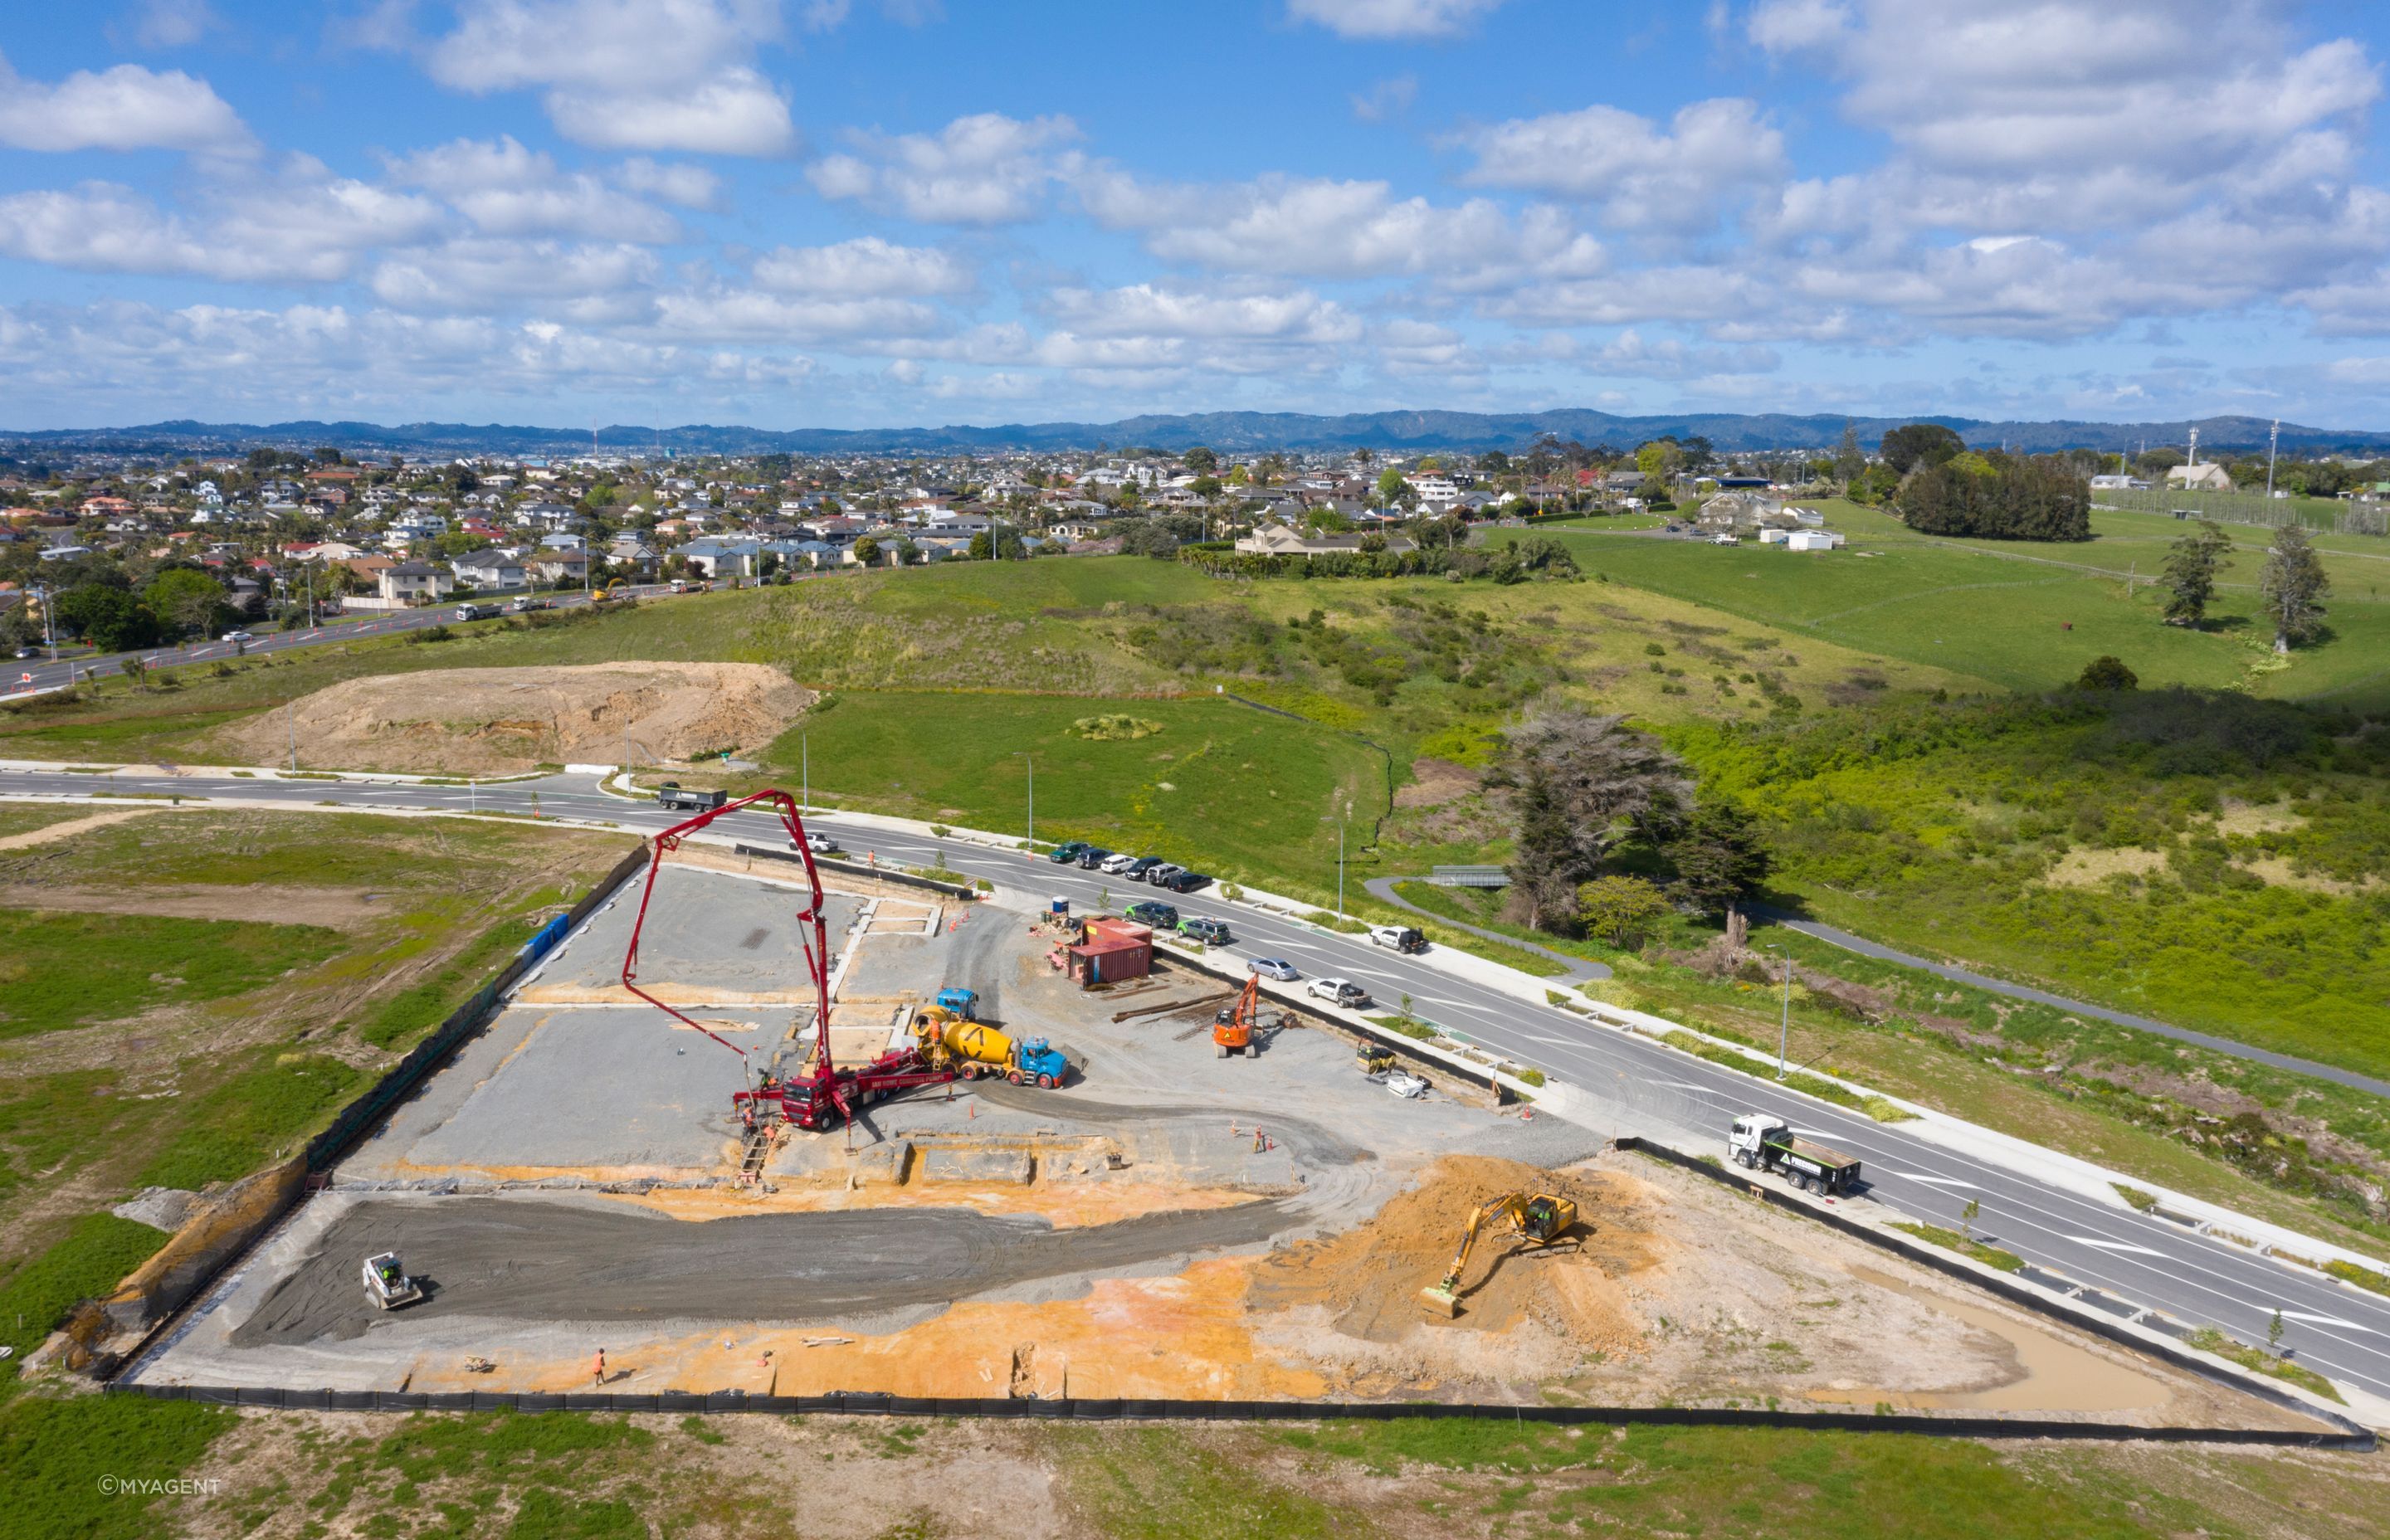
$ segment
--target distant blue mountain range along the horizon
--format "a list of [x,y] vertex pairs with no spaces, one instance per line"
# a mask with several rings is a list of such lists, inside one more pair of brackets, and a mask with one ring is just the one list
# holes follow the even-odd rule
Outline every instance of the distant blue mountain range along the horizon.
[[[1996,423],[1969,416],[1783,416],[1690,411],[1678,416],[1613,416],[1608,411],[1362,411],[1307,416],[1298,411],[1205,411],[1195,416],[1130,416],[1114,423],[1004,423],[997,428],[739,428],[691,423],[638,428],[614,423],[583,428],[521,428],[504,423],[141,423],[134,428],[53,428],[10,433],[0,428],[0,452],[14,457],[60,452],[191,454],[251,450],[261,445],[311,450],[337,445],[366,454],[970,454],[994,450],[1188,450],[1209,445],[1226,452],[1264,450],[1525,450],[1544,435],[1582,445],[1630,450],[1649,438],[1706,438],[1718,450],[1831,450],[1845,423],[1874,447],[1888,428],[1943,423],[1969,445],[2012,450],[2139,450],[2182,445],[2199,428],[2201,450],[2261,450],[2273,423],[2256,416],[2211,416],[2175,423]],[[2390,433],[2364,428],[2304,428],[2282,423],[2282,447],[2304,454],[2390,450]]]

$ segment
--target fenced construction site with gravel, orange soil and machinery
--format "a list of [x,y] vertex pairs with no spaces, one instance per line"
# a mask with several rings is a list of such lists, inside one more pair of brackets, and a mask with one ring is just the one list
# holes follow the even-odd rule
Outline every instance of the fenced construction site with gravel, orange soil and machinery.
[[127,1377],[2304,1425],[1238,957],[791,847],[667,835]]

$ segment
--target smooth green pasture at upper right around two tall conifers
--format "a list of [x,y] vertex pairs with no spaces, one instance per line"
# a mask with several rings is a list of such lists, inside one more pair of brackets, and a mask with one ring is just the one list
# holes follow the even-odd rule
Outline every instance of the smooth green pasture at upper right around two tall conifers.
[[[2333,636],[2285,665],[2251,622],[2263,531],[2227,526],[2237,552],[2206,631],[2161,624],[2149,579],[2182,526],[2163,514],[2091,514],[2082,545],[1943,540],[1898,519],[1828,502],[1850,536],[1833,552],[1556,528],[1582,567],[1651,593],[1785,627],[1857,650],[1907,658],[2008,689],[2067,684],[2098,655],[2144,684],[2247,686],[2349,705],[2390,701],[2390,543],[2325,536]],[[1508,536],[1508,531],[1503,531]],[[2139,583],[2129,579],[2139,574]],[[2127,593],[2129,588],[2129,593]]]

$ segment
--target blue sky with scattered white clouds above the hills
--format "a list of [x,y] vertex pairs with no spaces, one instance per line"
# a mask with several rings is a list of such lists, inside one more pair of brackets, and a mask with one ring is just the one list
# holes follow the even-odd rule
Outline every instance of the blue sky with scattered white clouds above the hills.
[[98,0],[0,426],[2390,426],[2390,7]]

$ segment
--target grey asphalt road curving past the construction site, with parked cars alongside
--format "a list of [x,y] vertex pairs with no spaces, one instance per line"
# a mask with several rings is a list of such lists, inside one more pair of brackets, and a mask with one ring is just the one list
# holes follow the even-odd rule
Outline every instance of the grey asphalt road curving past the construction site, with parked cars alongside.
[[[590,777],[562,775],[485,787],[416,787],[313,780],[237,782],[220,772],[96,777],[55,770],[0,770],[0,792],[48,796],[177,794],[184,799],[220,794],[296,806],[337,799],[361,808],[456,813],[468,808],[528,813],[533,796],[538,796],[538,808],[547,815],[612,820],[626,830],[652,832],[681,820],[681,815],[662,813],[652,803],[605,794]],[[851,849],[872,851],[880,861],[930,863],[937,854],[949,868],[1025,887],[1032,894],[1068,897],[1080,906],[1095,904],[1107,890],[1116,904],[1147,897],[1147,890],[1121,878],[1083,873],[1076,866],[1054,866],[1044,858],[1030,861],[1021,854],[989,851],[958,839],[891,835],[844,823],[834,813],[808,823],[827,832],[844,827],[844,842]],[[717,832],[746,835],[753,842],[777,839],[760,813],[724,818]],[[1362,937],[1243,906],[1207,904],[1202,894],[1173,902],[1181,913],[1226,916],[1238,935],[1238,945],[1231,947],[1236,954],[1283,957],[1307,978],[1331,973],[1353,978],[1389,1004],[1408,992],[1422,1016],[1613,1102],[1620,1110],[1616,1131],[1632,1133],[1644,1122],[1666,1129],[1714,1131],[1723,1155],[1726,1126],[1738,1112],[1776,1112],[1802,1133],[1864,1160],[1871,1196],[1893,1208],[1957,1227],[1960,1210],[1969,1200],[1979,1200],[1981,1212],[1974,1220],[1979,1239],[2005,1246],[2075,1282],[2165,1310],[2175,1320],[2216,1325],[2249,1344],[2266,1342],[2273,1313],[2280,1310],[2282,1346],[2292,1351],[2294,1361],[2376,1397],[2390,1397],[2390,1298],[2208,1241],[2151,1215],[2051,1188],[2027,1172],[1926,1143],[1902,1131],[1900,1124],[1879,1124],[1656,1043],[1592,1026],[1556,1007],[1530,1004],[1515,995],[1441,973],[1427,959],[1369,947]]]

